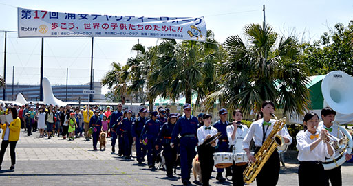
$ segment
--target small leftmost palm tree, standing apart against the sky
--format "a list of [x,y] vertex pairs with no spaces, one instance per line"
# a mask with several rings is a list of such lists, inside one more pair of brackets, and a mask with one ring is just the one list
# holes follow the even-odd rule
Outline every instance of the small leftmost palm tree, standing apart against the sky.
[[125,104],[125,98],[127,96],[127,80],[129,78],[128,66],[121,67],[117,62],[111,63],[111,69],[108,71],[103,79],[103,86],[108,86],[108,89],[114,92],[115,96],[120,95],[121,104]]

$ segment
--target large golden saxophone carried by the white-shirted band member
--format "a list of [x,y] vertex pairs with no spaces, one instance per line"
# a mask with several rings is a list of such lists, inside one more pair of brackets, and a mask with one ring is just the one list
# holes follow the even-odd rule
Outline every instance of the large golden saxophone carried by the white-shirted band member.
[[259,152],[255,154],[255,162],[249,163],[248,167],[246,167],[246,170],[244,170],[243,180],[244,183],[248,185],[253,183],[257,174],[259,174],[266,161],[276,150],[277,146],[284,146],[284,138],[281,137],[281,135],[278,135],[277,132],[279,132],[286,124],[286,117],[283,119],[277,119],[275,115],[271,115],[275,117],[276,123],[273,125],[273,129],[270,132],[270,135],[268,135],[264,144],[262,144]]

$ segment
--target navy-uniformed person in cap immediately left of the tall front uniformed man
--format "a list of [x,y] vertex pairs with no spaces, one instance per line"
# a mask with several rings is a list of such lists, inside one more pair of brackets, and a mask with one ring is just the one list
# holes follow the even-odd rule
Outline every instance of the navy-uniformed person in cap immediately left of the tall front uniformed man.
[[171,148],[171,133],[173,132],[173,128],[177,120],[177,114],[170,113],[167,123],[163,124],[156,140],[156,150],[160,148],[159,143],[163,146],[163,154],[165,157],[168,178],[174,178],[173,167],[175,164],[177,151],[175,148]]

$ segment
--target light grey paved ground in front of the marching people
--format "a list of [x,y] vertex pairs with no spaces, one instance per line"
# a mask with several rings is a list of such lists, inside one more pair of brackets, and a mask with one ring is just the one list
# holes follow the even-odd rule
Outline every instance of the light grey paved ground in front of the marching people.
[[[147,165],[138,166],[136,161],[125,161],[111,154],[110,139],[107,141],[107,150],[93,151],[92,141],[83,138],[75,141],[57,137],[44,139],[39,138],[38,132],[28,137],[21,131],[16,168],[8,170],[10,152],[7,150],[0,185],[181,185],[180,176],[170,179],[162,170],[151,171]],[[297,167],[295,161],[287,161],[286,167],[281,168],[278,185],[298,185]],[[180,170],[177,173],[180,174]],[[352,185],[353,163],[343,164],[342,174],[343,185]],[[213,177],[211,185],[232,184],[229,181],[218,183]]]

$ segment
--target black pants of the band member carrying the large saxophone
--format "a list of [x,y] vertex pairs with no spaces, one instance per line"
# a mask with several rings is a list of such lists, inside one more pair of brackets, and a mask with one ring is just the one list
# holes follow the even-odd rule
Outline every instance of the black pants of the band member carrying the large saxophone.
[[[260,148],[256,148],[255,154],[259,151]],[[279,154],[277,150],[272,153],[268,161],[265,163],[264,167],[262,167],[259,174],[256,177],[256,185],[257,186],[275,186],[277,185],[279,178]]]

